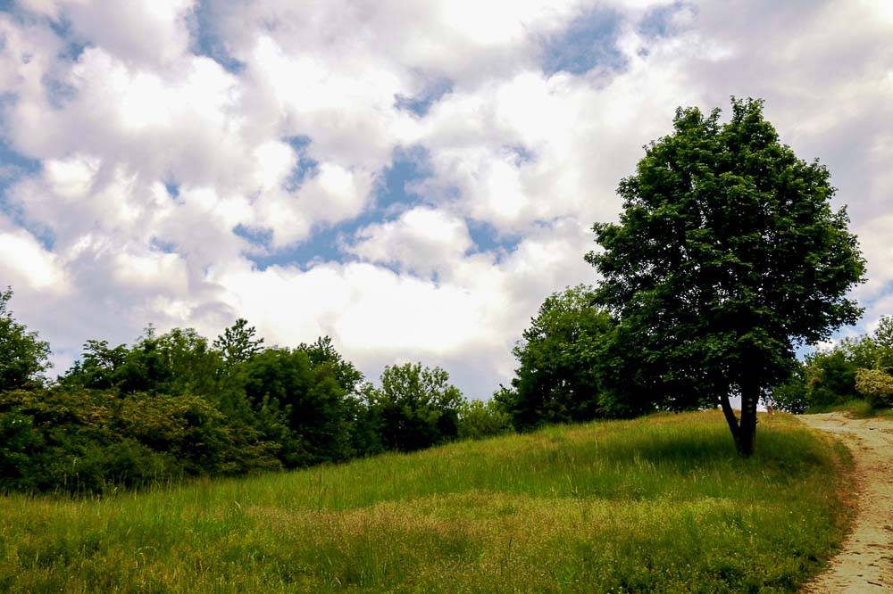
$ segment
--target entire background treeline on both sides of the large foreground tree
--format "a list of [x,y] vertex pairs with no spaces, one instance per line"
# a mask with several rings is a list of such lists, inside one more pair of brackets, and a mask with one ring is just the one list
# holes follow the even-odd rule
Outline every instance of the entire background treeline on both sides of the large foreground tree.
[[[89,340],[47,381],[49,345],[0,293],[0,491],[103,492],[194,475],[296,468],[550,423],[713,408],[698,378],[668,373],[580,285],[550,295],[513,349],[518,367],[487,402],[447,372],[385,367],[379,386],[329,337],[266,347],[238,319],[213,341],[192,329],[134,344]],[[795,361],[767,404],[801,413],[893,404],[893,318]],[[672,371],[672,370],[671,370]],[[710,378],[705,378],[709,386]]]

